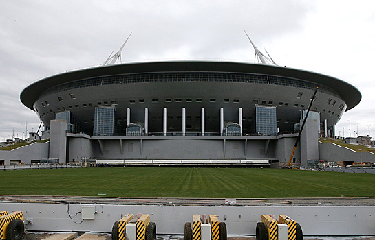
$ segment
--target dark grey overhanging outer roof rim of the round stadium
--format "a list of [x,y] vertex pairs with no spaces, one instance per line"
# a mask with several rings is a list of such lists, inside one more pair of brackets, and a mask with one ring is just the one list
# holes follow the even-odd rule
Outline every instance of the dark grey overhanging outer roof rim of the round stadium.
[[154,73],[154,72],[180,72],[180,71],[219,71],[228,73],[255,73],[263,75],[275,75],[305,80],[319,85],[327,86],[339,93],[347,104],[347,109],[354,108],[361,101],[361,93],[358,89],[343,80],[335,77],[279,67],[266,64],[249,64],[241,62],[208,62],[208,61],[175,61],[175,62],[137,62],[128,64],[115,64],[103,67],[93,67],[77,71],[69,71],[45,77],[42,80],[30,84],[21,93],[22,103],[33,110],[34,102],[49,88],[92,77],[120,75],[126,73]]

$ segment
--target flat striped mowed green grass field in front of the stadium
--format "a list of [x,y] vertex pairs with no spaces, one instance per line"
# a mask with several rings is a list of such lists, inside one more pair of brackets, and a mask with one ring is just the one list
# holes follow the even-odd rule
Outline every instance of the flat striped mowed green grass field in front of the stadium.
[[0,195],[374,197],[375,175],[291,169],[108,167],[0,171]]

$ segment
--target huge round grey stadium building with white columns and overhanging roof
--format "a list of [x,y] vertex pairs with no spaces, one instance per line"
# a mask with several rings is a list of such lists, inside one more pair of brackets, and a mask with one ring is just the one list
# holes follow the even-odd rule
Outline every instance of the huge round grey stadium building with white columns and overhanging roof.
[[285,162],[313,101],[294,161],[319,159],[361,101],[335,77],[269,64],[218,61],[114,64],[46,77],[21,101],[50,132],[60,163],[256,165]]

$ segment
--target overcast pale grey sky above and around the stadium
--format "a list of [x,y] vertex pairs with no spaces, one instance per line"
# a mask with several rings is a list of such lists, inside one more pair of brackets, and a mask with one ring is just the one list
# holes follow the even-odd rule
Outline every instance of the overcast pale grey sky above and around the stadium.
[[13,131],[22,138],[26,125],[39,128],[39,117],[19,100],[23,88],[102,64],[131,32],[122,63],[254,62],[244,30],[277,64],[356,86],[362,100],[341,117],[336,135],[375,135],[374,29],[373,0],[1,1],[0,141]]

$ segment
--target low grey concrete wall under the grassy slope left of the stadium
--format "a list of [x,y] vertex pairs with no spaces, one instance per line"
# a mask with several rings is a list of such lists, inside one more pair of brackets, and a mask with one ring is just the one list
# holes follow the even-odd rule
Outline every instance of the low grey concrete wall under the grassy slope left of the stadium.
[[0,151],[0,160],[5,160],[5,165],[10,165],[10,160],[19,160],[21,163],[31,163],[32,160],[48,158],[50,142],[32,143],[18,147],[12,151]]

